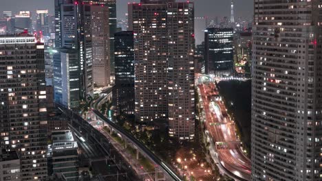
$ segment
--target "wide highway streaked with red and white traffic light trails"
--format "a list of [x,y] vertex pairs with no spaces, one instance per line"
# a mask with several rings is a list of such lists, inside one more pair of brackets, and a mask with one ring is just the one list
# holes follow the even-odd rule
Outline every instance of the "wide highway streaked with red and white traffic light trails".
[[204,125],[215,145],[216,156],[228,175],[238,180],[250,180],[250,160],[241,150],[235,122],[230,119],[213,80],[198,75],[197,85],[204,108]]

